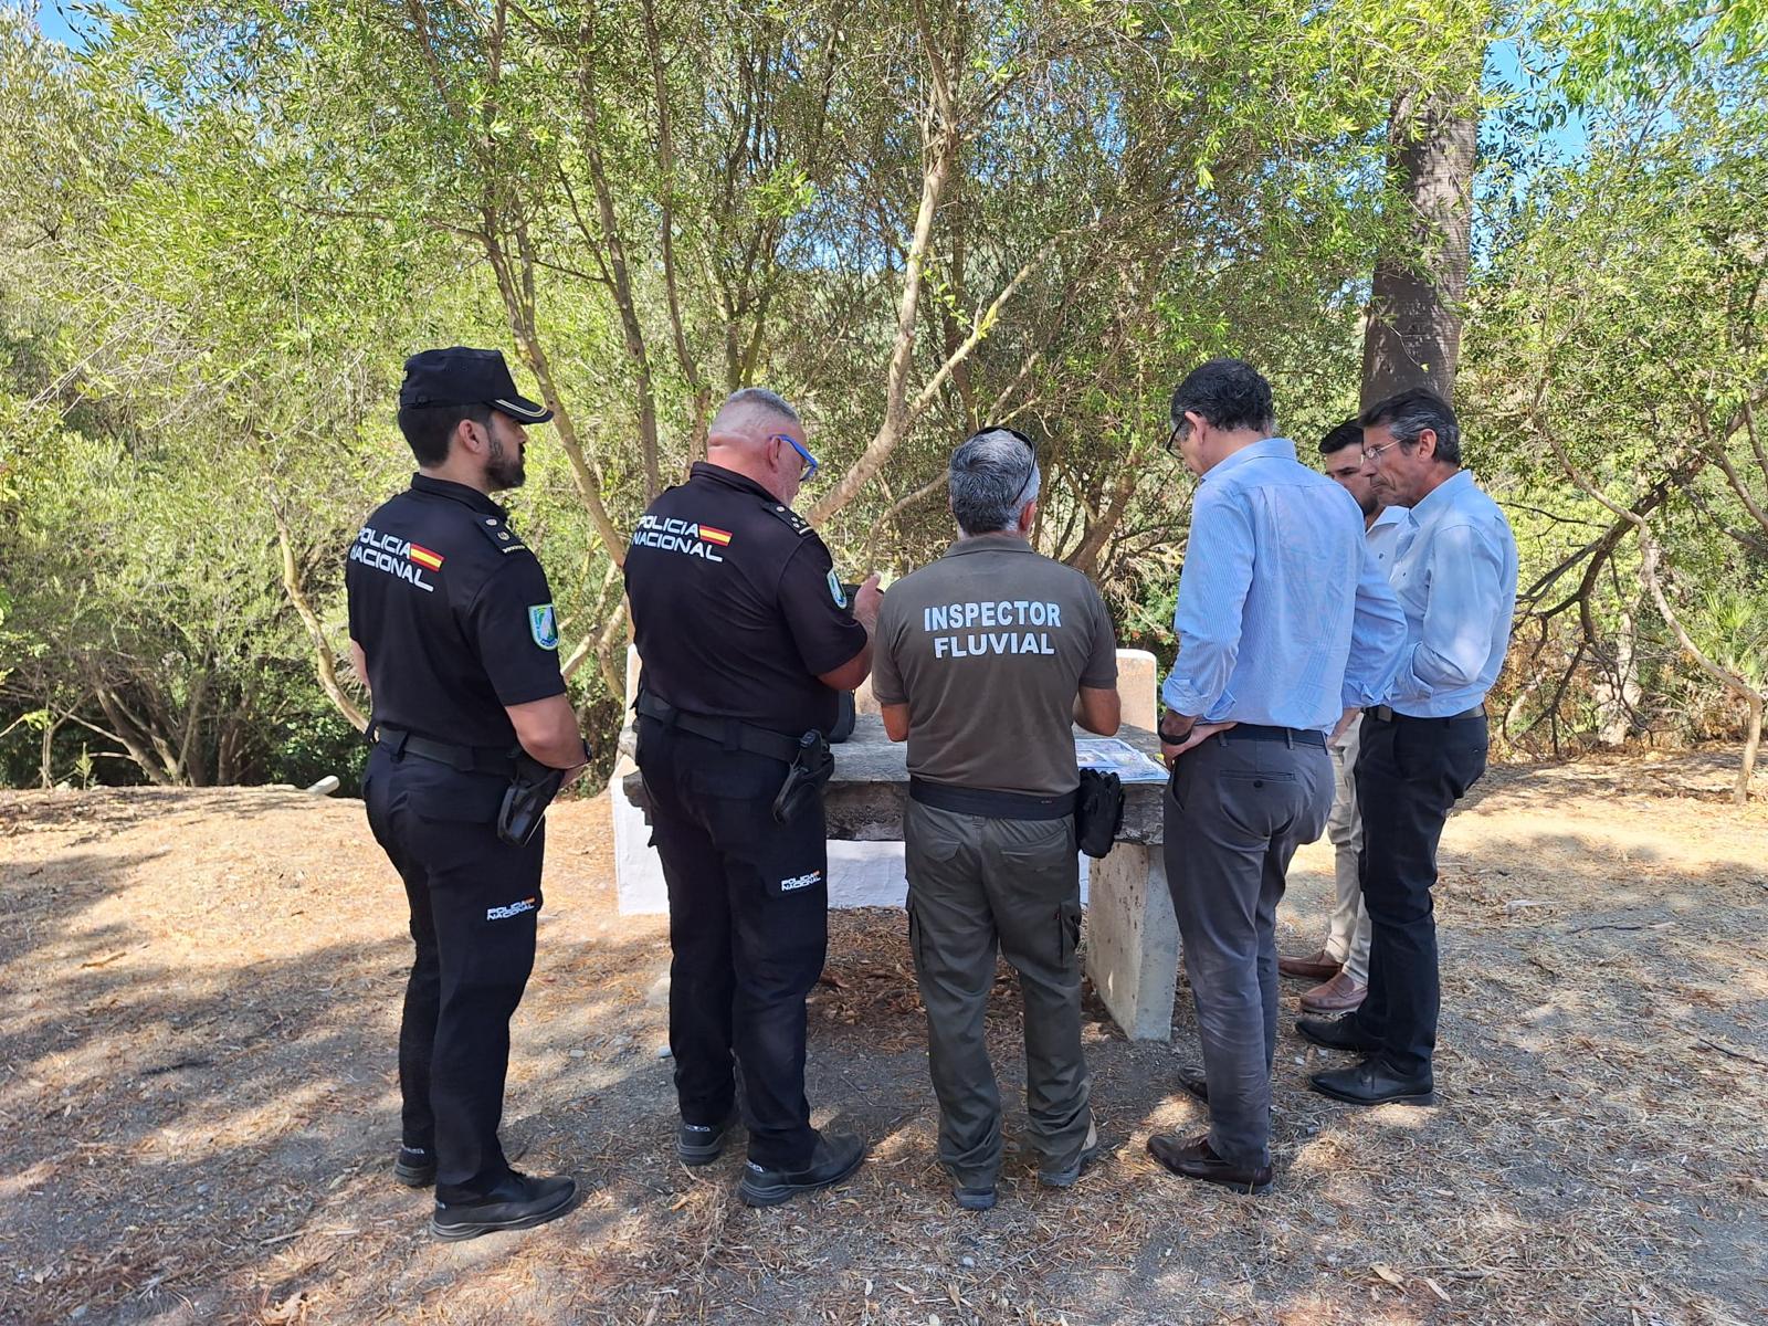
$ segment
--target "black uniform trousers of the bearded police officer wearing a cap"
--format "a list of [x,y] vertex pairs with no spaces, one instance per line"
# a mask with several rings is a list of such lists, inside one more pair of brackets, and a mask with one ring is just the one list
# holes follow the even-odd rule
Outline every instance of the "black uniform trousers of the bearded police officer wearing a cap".
[[[509,1163],[497,1140],[509,1068],[509,1018],[534,969],[541,909],[545,824],[523,847],[497,836],[493,822],[431,819],[438,766],[377,746],[362,776],[375,840],[405,880],[417,960],[405,985],[400,1024],[400,1093],[405,1146],[433,1149],[437,1200],[472,1200]],[[484,803],[483,774],[461,804]],[[414,787],[417,785],[417,787]]]

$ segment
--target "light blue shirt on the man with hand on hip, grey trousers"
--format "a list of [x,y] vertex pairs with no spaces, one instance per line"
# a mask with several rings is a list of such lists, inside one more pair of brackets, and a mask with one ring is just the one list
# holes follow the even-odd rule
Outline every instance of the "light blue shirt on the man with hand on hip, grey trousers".
[[1356,500],[1282,437],[1199,483],[1172,629],[1169,709],[1319,732],[1383,697],[1406,640]]

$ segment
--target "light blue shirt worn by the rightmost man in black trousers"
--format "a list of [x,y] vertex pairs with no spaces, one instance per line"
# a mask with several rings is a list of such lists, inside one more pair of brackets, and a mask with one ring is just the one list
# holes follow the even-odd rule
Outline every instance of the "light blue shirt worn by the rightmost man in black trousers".
[[1413,507],[1393,555],[1406,649],[1388,704],[1413,718],[1448,718],[1485,700],[1510,649],[1517,541],[1473,474],[1459,470]]

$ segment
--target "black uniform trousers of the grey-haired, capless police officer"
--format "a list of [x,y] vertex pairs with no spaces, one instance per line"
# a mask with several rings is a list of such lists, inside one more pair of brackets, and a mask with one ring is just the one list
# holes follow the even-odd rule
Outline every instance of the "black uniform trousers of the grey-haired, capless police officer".
[[668,884],[668,1041],[684,1123],[720,1124],[743,1070],[750,1160],[799,1169],[817,1144],[804,1098],[804,995],[829,946],[822,799],[780,824],[787,766],[638,720],[638,767]]

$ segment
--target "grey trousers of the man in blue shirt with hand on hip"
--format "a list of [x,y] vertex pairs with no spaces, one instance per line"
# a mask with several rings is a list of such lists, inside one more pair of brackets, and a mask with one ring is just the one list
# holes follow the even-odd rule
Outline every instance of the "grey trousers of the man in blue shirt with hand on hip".
[[1234,732],[1181,755],[1169,783],[1167,888],[1209,1078],[1209,1146],[1236,1165],[1271,1163],[1276,903],[1331,794],[1324,748]]

